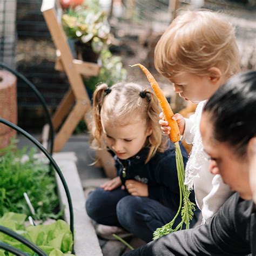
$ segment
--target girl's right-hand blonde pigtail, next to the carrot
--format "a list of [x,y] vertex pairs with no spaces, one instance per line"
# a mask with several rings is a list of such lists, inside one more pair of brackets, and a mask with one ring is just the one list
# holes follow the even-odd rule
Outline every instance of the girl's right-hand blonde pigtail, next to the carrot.
[[150,147],[150,151],[145,162],[147,163],[157,151],[165,151],[167,147],[167,138],[162,135],[161,127],[158,124],[160,106],[156,95],[154,95],[154,92],[151,89],[144,89],[142,92],[147,100],[147,125],[150,125],[152,128],[152,133],[147,140],[147,146]]

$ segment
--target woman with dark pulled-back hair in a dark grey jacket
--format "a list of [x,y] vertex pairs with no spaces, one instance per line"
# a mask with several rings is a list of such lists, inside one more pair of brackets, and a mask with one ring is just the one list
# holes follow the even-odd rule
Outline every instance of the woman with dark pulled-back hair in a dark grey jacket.
[[256,255],[256,71],[229,79],[200,123],[210,171],[234,193],[205,225],[166,235],[125,255]]

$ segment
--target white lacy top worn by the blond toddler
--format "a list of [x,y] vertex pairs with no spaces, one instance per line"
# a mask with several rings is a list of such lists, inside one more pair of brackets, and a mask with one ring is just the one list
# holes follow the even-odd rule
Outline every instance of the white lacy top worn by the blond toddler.
[[200,102],[196,112],[189,118],[185,118],[185,130],[183,140],[187,144],[193,144],[185,171],[185,185],[188,189],[194,187],[196,202],[203,215],[203,222],[212,217],[233,193],[224,184],[219,174],[214,175],[209,171],[210,161],[203,150],[201,134],[199,130],[201,114],[206,100]]

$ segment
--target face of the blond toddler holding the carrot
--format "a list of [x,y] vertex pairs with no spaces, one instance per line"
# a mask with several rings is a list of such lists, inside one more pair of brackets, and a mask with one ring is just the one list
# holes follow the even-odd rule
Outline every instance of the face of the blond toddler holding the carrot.
[[196,76],[187,72],[175,76],[171,82],[174,84],[174,92],[193,103],[209,99],[220,86],[220,79],[216,80],[211,76]]

